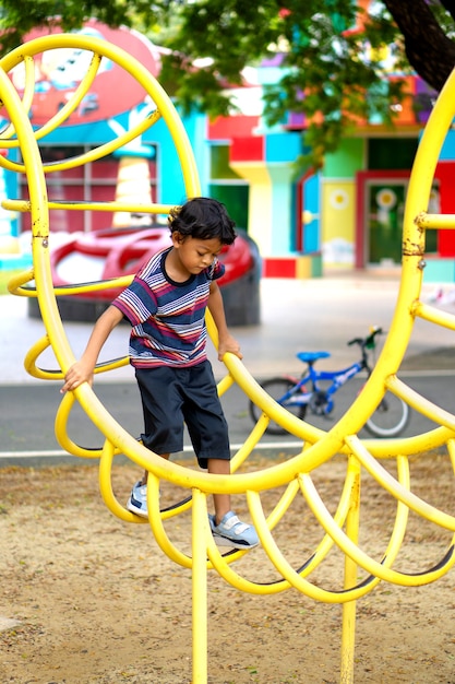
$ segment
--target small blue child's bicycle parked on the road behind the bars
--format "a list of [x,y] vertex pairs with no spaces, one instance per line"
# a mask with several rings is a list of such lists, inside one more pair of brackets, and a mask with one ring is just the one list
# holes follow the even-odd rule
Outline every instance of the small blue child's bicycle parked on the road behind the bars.
[[[299,352],[297,358],[307,364],[300,378],[282,376],[270,378],[261,387],[282,406],[303,420],[308,410],[314,415],[328,416],[334,409],[334,396],[348,380],[364,370],[370,377],[372,368],[369,352],[376,346],[375,338],[382,329],[374,327],[367,338],[355,338],[347,344],[360,347],[360,359],[342,370],[316,370],[314,364],[320,358],[328,358],[330,352]],[[250,415],[256,423],[262,412],[250,401]],[[364,427],[374,437],[396,437],[409,422],[409,406],[403,399],[387,392]],[[267,433],[284,435],[286,431],[274,421],[268,423]]]

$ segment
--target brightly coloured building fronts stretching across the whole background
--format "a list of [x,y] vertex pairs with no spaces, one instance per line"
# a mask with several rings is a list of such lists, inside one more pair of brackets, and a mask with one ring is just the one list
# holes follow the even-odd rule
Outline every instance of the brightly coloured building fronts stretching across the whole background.
[[[123,47],[159,80],[160,54],[143,36],[88,22],[83,32]],[[39,35],[34,32],[31,37]],[[55,50],[40,64],[31,111],[37,126],[64,106],[87,69],[86,56]],[[364,269],[400,261],[400,234],[406,190],[419,135],[431,110],[432,93],[418,76],[409,76],[408,96],[393,131],[381,121],[364,121],[356,134],[326,156],[318,173],[296,179],[295,161],[302,153],[304,117],[289,113],[274,129],[262,118],[262,87],[280,76],[280,56],[248,70],[249,82],[234,93],[240,113],[209,121],[194,114],[183,119],[194,150],[202,192],[229,209],[237,224],[259,246],[263,275],[311,278],[324,269]],[[21,73],[12,74],[21,89]],[[75,156],[129,130],[151,103],[132,82],[119,81],[116,67],[105,64],[77,111],[41,144],[46,162]],[[392,75],[391,75],[392,78]],[[121,93],[121,96],[119,96]],[[434,178],[434,211],[455,213],[452,178],[455,140],[447,135]],[[139,182],[139,179],[141,182]],[[15,185],[17,187],[15,187]],[[166,126],[156,123],[134,148],[68,172],[48,175],[49,197],[71,200],[129,200],[141,197],[160,203],[184,199],[184,185],[173,142]],[[3,172],[0,193],[26,197],[24,179]],[[0,215],[0,266],[11,261],[11,238],[27,231],[27,215]],[[146,224],[146,216],[109,212],[53,210],[53,232],[91,232]],[[9,228],[8,228],[9,226]],[[8,235],[8,232],[10,233]],[[3,236],[3,237],[2,237]],[[3,245],[8,248],[2,250]],[[427,278],[455,281],[455,236],[430,232]],[[3,251],[3,255],[1,253]],[[4,252],[10,252],[3,260]]]

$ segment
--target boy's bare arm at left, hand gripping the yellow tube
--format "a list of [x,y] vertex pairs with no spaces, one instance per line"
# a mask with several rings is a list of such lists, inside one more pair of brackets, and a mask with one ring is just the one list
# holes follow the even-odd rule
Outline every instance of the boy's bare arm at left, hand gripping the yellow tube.
[[62,393],[67,390],[75,389],[83,382],[92,384],[93,372],[96,366],[99,352],[113,328],[121,321],[122,318],[123,314],[115,306],[109,306],[109,308],[101,314],[95,323],[91,338],[87,342],[87,346],[85,347],[80,361],[73,364],[64,376],[64,385],[60,390]]

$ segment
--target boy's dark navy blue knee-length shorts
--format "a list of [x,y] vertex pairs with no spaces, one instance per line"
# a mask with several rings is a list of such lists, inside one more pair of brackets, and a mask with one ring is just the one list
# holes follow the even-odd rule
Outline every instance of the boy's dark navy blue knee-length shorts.
[[212,366],[136,368],[144,411],[144,446],[159,456],[183,449],[187,424],[201,468],[207,459],[230,460],[228,425]]

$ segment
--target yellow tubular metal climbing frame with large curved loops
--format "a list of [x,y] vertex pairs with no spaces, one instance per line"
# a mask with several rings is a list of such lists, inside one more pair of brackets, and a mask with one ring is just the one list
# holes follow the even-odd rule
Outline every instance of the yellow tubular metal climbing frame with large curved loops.
[[[86,76],[69,101],[50,120],[37,130],[33,130],[27,113],[34,95],[34,58],[36,55],[61,47],[77,48],[93,54]],[[60,125],[65,117],[74,111],[96,74],[101,60],[108,58],[120,63],[144,89],[155,103],[156,109],[133,130],[125,132],[110,143],[106,143],[80,157],[69,158],[47,166],[41,163],[38,141]],[[25,90],[22,98],[14,90],[8,73],[24,62]],[[31,212],[33,226],[33,270],[19,275],[10,283],[10,291],[20,296],[37,297],[47,334],[31,349],[25,365],[31,375],[41,379],[62,379],[67,369],[74,363],[56,304],[57,295],[81,294],[83,292],[103,291],[127,285],[131,276],[116,279],[109,283],[99,282],[85,285],[55,287],[51,280],[49,255],[49,210],[62,207],[61,203],[48,201],[46,174],[62,168],[74,168],[88,158],[99,158],[111,153],[118,146],[130,142],[147,127],[163,118],[175,141],[188,196],[200,192],[197,172],[192,150],[188,143],[184,129],[166,93],[144,67],[128,54],[113,45],[96,38],[56,35],[29,42],[13,50],[1,60],[0,95],[10,118],[10,126],[3,130],[1,146],[20,148],[23,162],[0,158],[4,168],[25,173],[28,181],[29,200],[7,200],[3,207],[13,211]],[[207,681],[207,571],[216,570],[227,582],[241,591],[255,594],[284,592],[291,587],[316,601],[343,604],[342,664],[340,681],[354,681],[355,651],[355,617],[356,601],[373,590],[378,583],[387,581],[403,587],[422,586],[441,578],[455,563],[454,539],[441,558],[432,567],[418,568],[415,571],[403,571],[395,567],[404,541],[409,511],[422,519],[432,521],[455,533],[455,517],[439,510],[421,497],[410,486],[409,457],[423,450],[445,449],[447,458],[455,467],[455,415],[423,397],[419,396],[398,378],[399,366],[406,352],[416,318],[421,318],[434,326],[443,326],[455,330],[452,315],[442,312],[420,300],[422,276],[424,270],[424,238],[427,229],[454,227],[455,216],[428,214],[427,207],[431,191],[431,181],[439,152],[451,127],[454,116],[455,74],[448,80],[436,102],[419,145],[415,167],[409,185],[408,199],[404,221],[403,236],[403,274],[399,285],[395,314],[387,340],[378,364],[369,378],[361,397],[355,401],[349,411],[328,432],[312,427],[304,421],[288,413],[279,406],[254,381],[242,363],[227,354],[225,364],[227,375],[219,384],[219,392],[229,390],[234,384],[246,392],[248,398],[258,404],[263,414],[253,427],[244,445],[232,460],[230,477],[208,475],[172,462],[167,462],[145,449],[129,435],[108,413],[88,385],[77,388],[74,393],[67,393],[56,417],[56,434],[61,446],[70,453],[82,458],[99,458],[99,484],[103,498],[109,510],[125,522],[140,522],[116,499],[110,480],[110,471],[116,455],[123,453],[131,461],[145,468],[148,477],[149,526],[161,550],[171,561],[192,571],[193,597],[193,684]],[[179,198],[180,199],[180,198]],[[176,202],[177,203],[177,202]],[[65,209],[82,209],[82,204],[72,202]],[[128,207],[117,202],[107,204],[88,203],[83,207],[89,211],[137,211],[137,207]],[[168,205],[151,204],[141,207],[142,213],[165,214]],[[29,284],[34,280],[35,284]],[[213,321],[208,318],[207,326],[214,343]],[[38,366],[38,358],[44,350],[51,346],[59,368],[47,370]],[[125,365],[127,358],[116,359],[96,368],[104,373],[119,365]],[[358,433],[385,394],[392,392],[403,399],[415,411],[430,417],[438,427],[412,438],[394,438],[387,440],[360,440]],[[70,439],[67,431],[68,417],[74,401],[77,400],[88,417],[105,436],[100,448],[86,449]],[[304,444],[301,452],[285,462],[272,464],[258,472],[238,472],[258,445],[265,432],[268,421],[283,425],[287,432],[299,437]],[[334,514],[325,506],[312,477],[312,473],[336,455],[346,458],[346,479]],[[394,476],[381,462],[392,460],[396,463],[397,475]],[[396,517],[390,534],[390,541],[380,559],[371,557],[359,545],[359,507],[360,481],[362,473],[371,475],[390,496],[396,499]],[[188,490],[188,497],[179,506],[169,510],[159,510],[159,482],[166,480]],[[284,494],[273,510],[265,515],[261,495],[276,487],[284,487]],[[259,532],[262,547],[279,579],[270,583],[247,579],[240,570],[234,569],[235,562],[248,562],[246,552],[236,551],[221,555],[209,533],[207,521],[207,495],[213,493],[230,493],[243,495],[249,506],[252,521]],[[321,526],[321,542],[304,561],[299,569],[295,569],[287,561],[274,538],[274,529],[278,522],[290,515],[289,508],[297,496],[302,496]],[[192,554],[182,553],[166,533],[163,521],[178,516],[192,506]],[[342,587],[326,589],[311,581],[312,573],[323,563],[333,546],[345,555],[344,578]],[[246,556],[246,557],[243,557]],[[358,579],[361,575],[361,579]],[[278,654],[277,654],[278,657]]]

